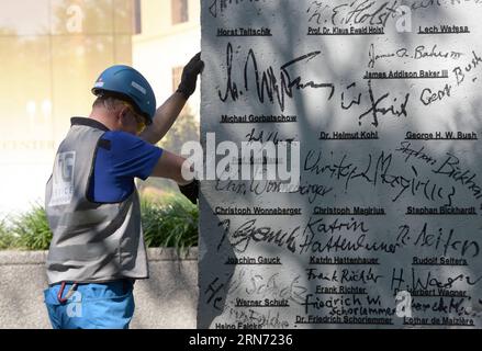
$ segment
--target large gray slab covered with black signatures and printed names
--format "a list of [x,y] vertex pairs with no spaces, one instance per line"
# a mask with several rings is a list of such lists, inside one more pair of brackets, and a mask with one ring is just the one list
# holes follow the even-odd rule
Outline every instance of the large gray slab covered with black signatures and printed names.
[[482,327],[482,3],[401,3],[201,1],[198,327]]

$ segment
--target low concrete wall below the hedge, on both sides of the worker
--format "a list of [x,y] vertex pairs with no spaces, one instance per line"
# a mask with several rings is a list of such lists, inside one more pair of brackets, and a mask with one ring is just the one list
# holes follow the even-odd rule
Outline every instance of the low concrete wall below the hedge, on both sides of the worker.
[[[133,329],[197,327],[198,250],[149,249],[150,279],[137,281]],[[0,329],[49,329],[46,251],[0,251]]]

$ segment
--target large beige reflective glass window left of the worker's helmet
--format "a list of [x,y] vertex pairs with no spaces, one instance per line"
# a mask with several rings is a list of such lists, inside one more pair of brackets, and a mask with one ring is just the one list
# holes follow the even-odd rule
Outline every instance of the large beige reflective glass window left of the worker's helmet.
[[[133,0],[0,1],[0,217],[43,199],[72,115],[98,75],[132,64]],[[19,186],[11,186],[18,183]]]

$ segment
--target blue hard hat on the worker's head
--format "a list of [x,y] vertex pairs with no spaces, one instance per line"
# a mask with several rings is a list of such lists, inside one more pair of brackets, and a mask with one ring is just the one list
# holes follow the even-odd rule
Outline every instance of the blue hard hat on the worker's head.
[[132,67],[109,67],[97,79],[92,93],[97,97],[109,95],[125,100],[146,118],[147,124],[153,123],[156,97],[147,79]]

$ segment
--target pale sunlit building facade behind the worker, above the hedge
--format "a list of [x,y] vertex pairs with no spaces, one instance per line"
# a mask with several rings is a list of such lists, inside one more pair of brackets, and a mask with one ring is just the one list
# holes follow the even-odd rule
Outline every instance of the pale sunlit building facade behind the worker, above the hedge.
[[194,0],[0,3],[0,219],[43,204],[55,150],[70,117],[90,113],[103,69],[132,65],[158,103],[172,93],[200,48],[198,13]]

